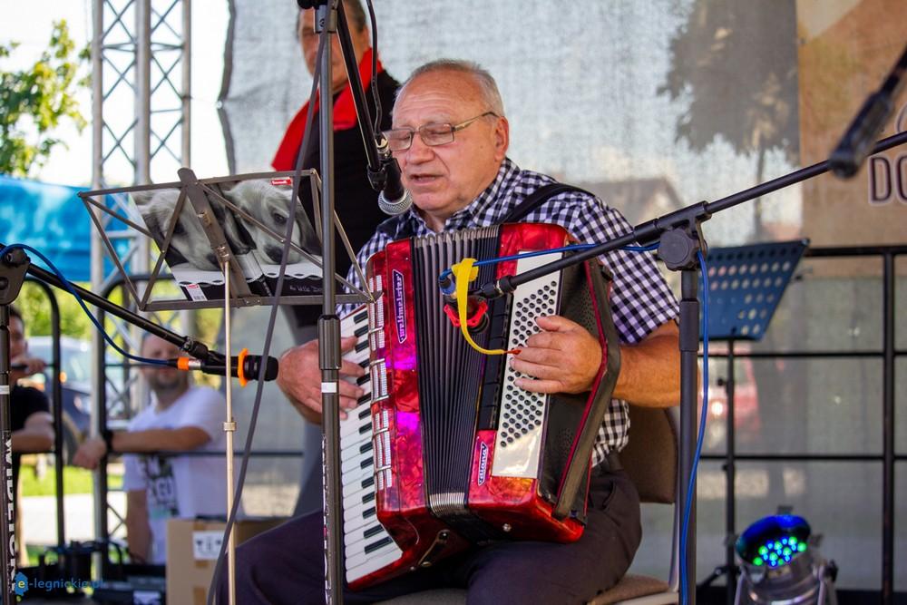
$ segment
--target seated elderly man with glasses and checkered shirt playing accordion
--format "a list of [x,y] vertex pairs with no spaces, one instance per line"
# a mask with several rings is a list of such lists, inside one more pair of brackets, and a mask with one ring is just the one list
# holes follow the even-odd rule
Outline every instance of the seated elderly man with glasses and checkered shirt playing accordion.
[[[473,63],[442,60],[416,69],[397,95],[393,126],[385,136],[414,208],[382,223],[359,252],[363,264],[397,239],[496,225],[553,181],[523,171],[507,158],[509,124],[501,96],[492,76]],[[619,212],[580,190],[551,196],[524,220],[561,225],[586,243],[606,241],[630,229]],[[627,443],[627,402],[660,407],[678,399],[678,306],[649,255],[617,250],[600,260],[613,274],[610,307],[620,343],[620,369],[591,450],[588,508],[580,538],[567,543],[473,545],[430,567],[360,590],[347,588],[345,600],[370,602],[457,587],[468,590],[471,604],[584,602],[628,570],[641,538],[639,495],[619,470],[617,453]],[[533,320],[538,332],[519,353],[508,356],[507,363],[522,373],[515,385],[543,394],[589,391],[600,374],[600,341],[566,317]],[[341,346],[348,351],[355,342],[346,337]],[[284,393],[313,422],[321,415],[317,346],[312,341],[289,350],[278,376]],[[357,377],[365,370],[345,359],[341,373]],[[341,381],[341,408],[353,409],[363,394],[356,381]],[[323,532],[317,513],[241,546],[239,602],[323,602]]]

